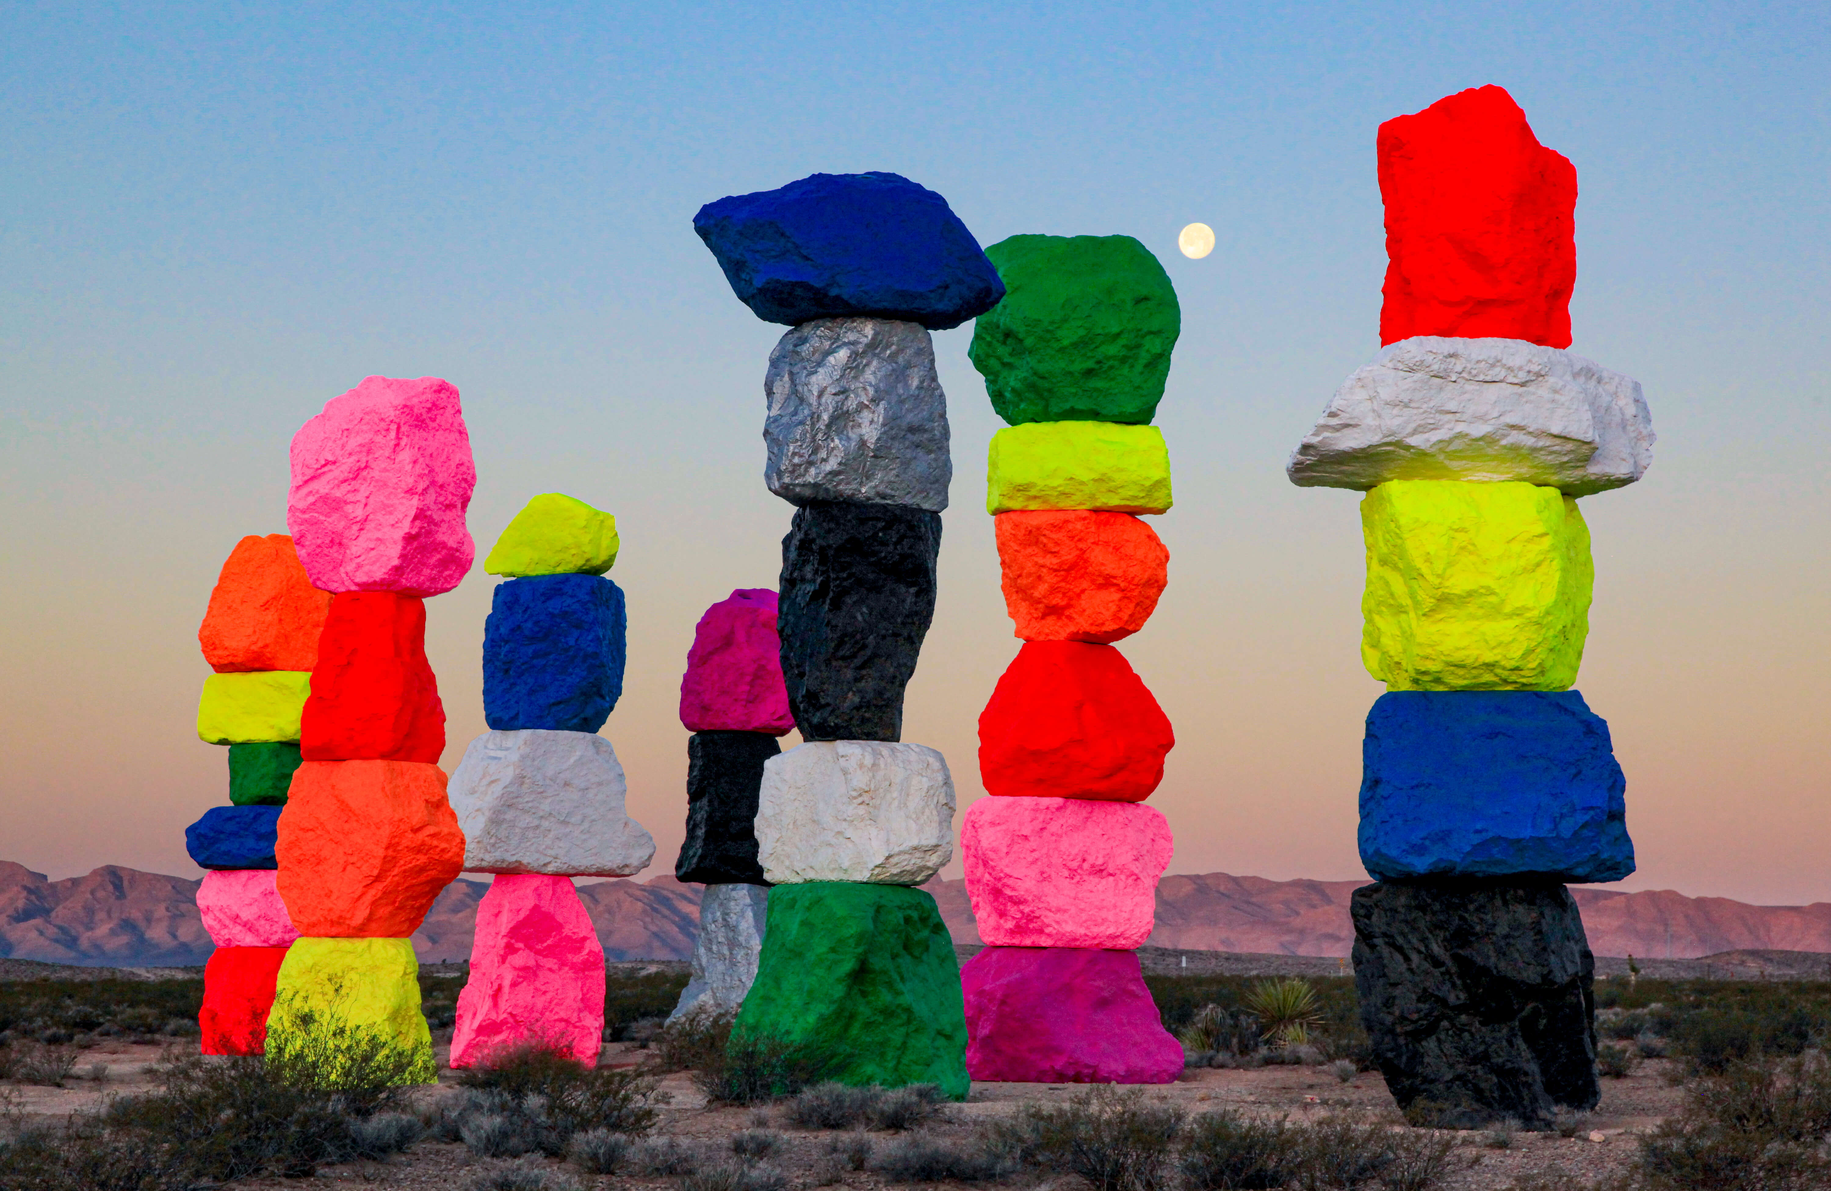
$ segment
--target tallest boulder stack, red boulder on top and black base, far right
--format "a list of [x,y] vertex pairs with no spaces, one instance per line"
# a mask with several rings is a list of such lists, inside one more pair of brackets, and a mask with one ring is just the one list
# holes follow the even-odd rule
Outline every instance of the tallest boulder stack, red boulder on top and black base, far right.
[[1578,497],[1641,478],[1641,385],[1571,355],[1576,170],[1498,86],[1381,125],[1384,350],[1289,464],[1366,491],[1355,982],[1401,1107],[1591,1109],[1595,960],[1567,881],[1633,872],[1626,782],[1571,691],[1589,630]]

